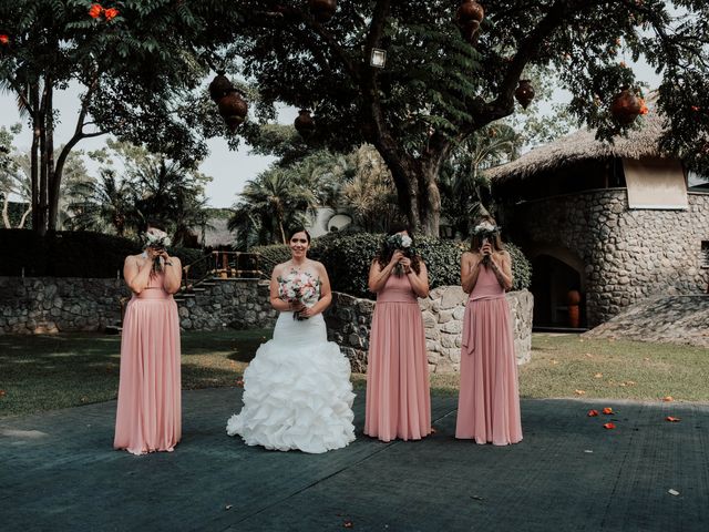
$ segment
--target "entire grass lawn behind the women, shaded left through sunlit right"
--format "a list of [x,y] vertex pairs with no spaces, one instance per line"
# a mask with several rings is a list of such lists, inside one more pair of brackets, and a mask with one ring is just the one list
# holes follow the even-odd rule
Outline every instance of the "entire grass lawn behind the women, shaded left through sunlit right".
[[[183,387],[235,386],[271,331],[184,332]],[[0,417],[114,399],[120,338],[93,332],[0,336]],[[364,387],[364,376],[352,376]],[[523,397],[709,401],[709,350],[637,341],[533,337],[520,368]],[[459,376],[432,375],[434,393],[456,393]],[[577,391],[578,390],[578,391]],[[583,392],[583,393],[579,393]]]

